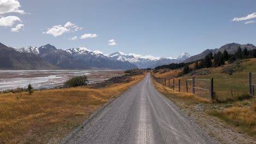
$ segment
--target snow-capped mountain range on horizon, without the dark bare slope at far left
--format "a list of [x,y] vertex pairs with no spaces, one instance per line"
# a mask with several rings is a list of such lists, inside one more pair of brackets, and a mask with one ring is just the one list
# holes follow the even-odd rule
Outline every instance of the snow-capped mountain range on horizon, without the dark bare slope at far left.
[[23,47],[16,49],[16,51],[33,53],[64,69],[88,69],[89,67],[106,69],[155,68],[158,65],[180,63],[190,57],[188,53],[182,53],[178,58],[142,56],[135,53],[127,55],[123,52],[104,55],[101,51],[91,51],[86,47],[62,50],[56,49],[50,44],[40,47]]

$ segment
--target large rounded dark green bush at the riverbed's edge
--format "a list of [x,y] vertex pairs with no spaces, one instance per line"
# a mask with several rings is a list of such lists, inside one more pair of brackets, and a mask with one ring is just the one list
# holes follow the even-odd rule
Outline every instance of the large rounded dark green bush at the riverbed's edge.
[[65,82],[66,87],[78,87],[87,85],[87,76],[75,76]]

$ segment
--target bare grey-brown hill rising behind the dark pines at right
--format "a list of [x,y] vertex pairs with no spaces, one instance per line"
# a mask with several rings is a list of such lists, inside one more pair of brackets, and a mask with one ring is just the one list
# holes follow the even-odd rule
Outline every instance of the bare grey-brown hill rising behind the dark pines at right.
[[245,47],[247,48],[247,50],[256,49],[256,47],[252,44],[241,45],[241,44],[231,43],[231,44],[223,45],[219,49],[214,49],[214,50],[207,49],[207,50],[199,53],[198,55],[191,56],[190,58],[185,59],[185,61],[183,61],[183,62],[188,63],[188,62],[198,61],[200,59],[205,58],[205,56],[208,55],[208,53],[210,53],[210,52],[212,52],[214,54],[214,53],[217,53],[219,51],[223,52],[224,50],[226,50],[226,51],[228,51],[229,54],[234,54],[237,51],[239,46],[241,47],[242,50],[245,49]]

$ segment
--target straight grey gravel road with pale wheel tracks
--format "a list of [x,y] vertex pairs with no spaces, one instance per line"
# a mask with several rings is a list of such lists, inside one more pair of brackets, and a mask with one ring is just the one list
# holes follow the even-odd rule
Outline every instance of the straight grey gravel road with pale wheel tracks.
[[154,87],[150,74],[63,143],[218,143]]

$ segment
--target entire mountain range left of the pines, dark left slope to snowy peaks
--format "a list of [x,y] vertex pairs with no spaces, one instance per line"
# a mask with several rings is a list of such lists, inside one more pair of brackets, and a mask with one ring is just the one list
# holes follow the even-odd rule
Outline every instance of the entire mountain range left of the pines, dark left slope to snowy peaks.
[[[0,43],[1,44],[1,43]],[[179,63],[187,59],[190,55],[183,53],[178,58],[164,58],[154,56],[141,56],[136,54],[125,54],[115,52],[104,55],[101,51],[91,51],[85,47],[68,50],[57,49],[55,46],[47,44],[40,47],[22,47],[14,49],[1,44],[5,49],[15,52],[15,57],[10,55],[0,56],[5,59],[0,69],[134,69],[134,68],[155,68],[158,65]],[[3,53],[3,49],[0,52]],[[28,56],[33,58],[27,58]],[[22,64],[18,63],[19,57],[26,57]],[[16,61],[14,59],[16,58]],[[33,59],[38,59],[33,61]],[[40,61],[40,64],[38,63]],[[7,67],[6,65],[9,66]],[[42,65],[43,64],[43,65]],[[17,66],[19,65],[19,67]],[[40,66],[42,65],[42,67]]]

